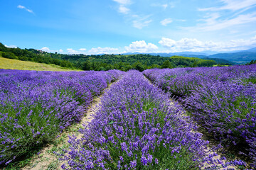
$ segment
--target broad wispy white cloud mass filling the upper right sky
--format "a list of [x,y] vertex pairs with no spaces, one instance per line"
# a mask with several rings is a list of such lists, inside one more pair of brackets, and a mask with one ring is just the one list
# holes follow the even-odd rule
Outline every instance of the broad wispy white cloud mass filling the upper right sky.
[[[197,31],[212,31],[230,29],[230,32],[235,31],[238,26],[245,27],[245,24],[256,23],[256,12],[244,13],[250,8],[256,6],[255,0],[218,0],[221,6],[210,8],[198,8],[198,11],[207,12],[206,17],[199,21],[195,27],[188,27],[188,30]],[[225,11],[224,11],[225,10]],[[233,14],[228,16],[226,11],[231,11]],[[242,13],[242,14],[241,14]]]

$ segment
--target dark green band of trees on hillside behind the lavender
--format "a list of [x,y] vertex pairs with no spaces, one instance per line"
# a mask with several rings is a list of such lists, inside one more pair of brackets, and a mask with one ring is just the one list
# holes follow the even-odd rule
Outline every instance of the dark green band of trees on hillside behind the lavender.
[[137,69],[140,72],[151,68],[175,68],[175,67],[213,67],[214,60],[203,60],[196,57],[160,57],[159,55],[63,55],[43,52],[35,49],[20,49],[5,47],[0,43],[2,57],[55,64],[70,69],[82,70],[110,70],[119,69],[128,71]]

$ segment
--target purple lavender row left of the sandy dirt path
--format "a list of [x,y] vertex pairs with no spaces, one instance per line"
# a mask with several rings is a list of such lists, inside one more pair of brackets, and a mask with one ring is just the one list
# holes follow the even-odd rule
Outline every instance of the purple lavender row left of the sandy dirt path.
[[94,96],[122,72],[0,70],[0,165],[54,139],[81,120]]

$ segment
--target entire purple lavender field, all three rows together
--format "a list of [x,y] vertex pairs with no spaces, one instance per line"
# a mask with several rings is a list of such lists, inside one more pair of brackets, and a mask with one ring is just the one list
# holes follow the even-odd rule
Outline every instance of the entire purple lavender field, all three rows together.
[[[68,149],[55,153],[62,169],[253,168],[255,75],[255,64],[144,72],[1,69],[0,166],[54,142],[114,82],[79,130],[82,137],[70,136]],[[217,159],[220,145],[210,146],[205,136],[243,156]]]

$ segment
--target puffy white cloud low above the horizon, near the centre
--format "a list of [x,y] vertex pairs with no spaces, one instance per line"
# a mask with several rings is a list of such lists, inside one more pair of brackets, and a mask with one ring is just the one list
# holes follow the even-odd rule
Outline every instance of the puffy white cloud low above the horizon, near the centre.
[[152,43],[146,44],[144,40],[134,41],[128,47],[124,47],[126,52],[155,52],[158,47]]

